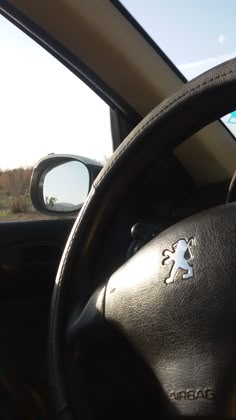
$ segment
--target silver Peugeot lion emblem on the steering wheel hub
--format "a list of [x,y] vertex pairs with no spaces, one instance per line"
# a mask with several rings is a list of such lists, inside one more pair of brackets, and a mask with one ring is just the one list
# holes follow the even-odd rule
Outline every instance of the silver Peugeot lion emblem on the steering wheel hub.
[[169,276],[166,277],[165,283],[174,283],[179,279],[191,279],[193,277],[193,247],[194,238],[180,239],[172,245],[172,250],[166,249],[163,252],[162,264],[172,263]]

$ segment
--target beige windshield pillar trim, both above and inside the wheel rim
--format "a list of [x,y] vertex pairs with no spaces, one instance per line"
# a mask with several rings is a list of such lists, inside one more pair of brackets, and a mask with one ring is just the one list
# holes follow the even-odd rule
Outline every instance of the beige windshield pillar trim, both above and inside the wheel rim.
[[[182,81],[108,0],[11,0],[11,3],[86,63],[140,115]],[[195,181],[229,178],[236,143],[218,122],[176,150]]]

